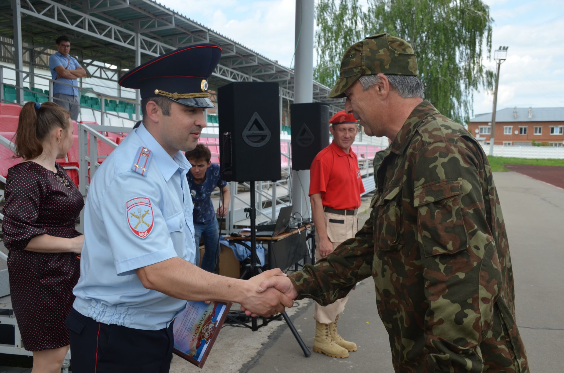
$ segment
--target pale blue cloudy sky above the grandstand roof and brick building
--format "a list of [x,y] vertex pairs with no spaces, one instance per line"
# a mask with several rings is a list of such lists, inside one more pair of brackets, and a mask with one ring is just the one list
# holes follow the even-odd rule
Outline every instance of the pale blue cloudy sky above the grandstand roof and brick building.
[[[495,20],[493,48],[509,46],[508,58],[500,70],[497,108],[564,106],[564,2],[484,2],[490,6]],[[162,3],[271,60],[290,66],[295,0],[164,0]],[[364,5],[366,0],[360,3]],[[484,64],[495,70],[494,61],[486,59]],[[492,94],[475,92],[474,114],[491,110]]]

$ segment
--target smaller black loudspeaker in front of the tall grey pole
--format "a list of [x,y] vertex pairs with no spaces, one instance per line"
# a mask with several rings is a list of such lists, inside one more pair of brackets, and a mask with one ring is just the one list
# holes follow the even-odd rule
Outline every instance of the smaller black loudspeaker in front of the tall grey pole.
[[292,104],[292,169],[309,170],[315,156],[329,145],[329,105]]

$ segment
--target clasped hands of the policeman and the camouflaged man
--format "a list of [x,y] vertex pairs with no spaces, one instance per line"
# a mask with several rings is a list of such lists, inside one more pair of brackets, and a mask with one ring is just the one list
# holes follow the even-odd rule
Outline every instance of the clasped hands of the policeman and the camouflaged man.
[[292,282],[279,268],[267,270],[245,281],[241,310],[248,316],[274,316],[292,307],[298,296]]

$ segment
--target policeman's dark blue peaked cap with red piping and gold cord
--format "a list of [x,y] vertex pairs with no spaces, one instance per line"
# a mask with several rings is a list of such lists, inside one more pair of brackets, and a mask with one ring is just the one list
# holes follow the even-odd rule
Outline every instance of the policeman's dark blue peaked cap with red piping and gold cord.
[[213,108],[208,79],[219,63],[221,48],[195,44],[155,57],[120,79],[120,86],[140,90],[141,98],[164,96],[179,104]]

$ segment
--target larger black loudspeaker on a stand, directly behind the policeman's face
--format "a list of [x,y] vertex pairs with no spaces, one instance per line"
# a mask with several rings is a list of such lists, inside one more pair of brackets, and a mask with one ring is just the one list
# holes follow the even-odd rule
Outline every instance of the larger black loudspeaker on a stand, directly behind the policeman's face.
[[280,180],[278,83],[233,82],[217,92],[222,179]]

